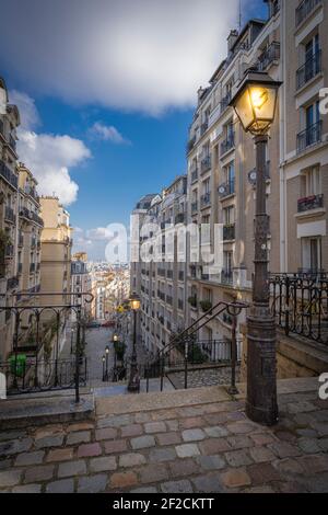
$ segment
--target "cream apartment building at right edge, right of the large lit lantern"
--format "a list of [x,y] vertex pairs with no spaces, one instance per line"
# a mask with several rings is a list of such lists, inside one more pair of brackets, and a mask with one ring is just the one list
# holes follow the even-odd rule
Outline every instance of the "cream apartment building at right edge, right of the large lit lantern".
[[281,270],[328,268],[328,2],[283,3],[284,89],[281,135]]

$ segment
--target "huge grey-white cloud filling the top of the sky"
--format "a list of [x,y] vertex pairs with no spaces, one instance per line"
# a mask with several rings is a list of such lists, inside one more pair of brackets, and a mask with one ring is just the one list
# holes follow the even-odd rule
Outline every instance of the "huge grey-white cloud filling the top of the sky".
[[2,0],[0,61],[44,94],[157,115],[195,104],[196,90],[226,55],[237,4]]

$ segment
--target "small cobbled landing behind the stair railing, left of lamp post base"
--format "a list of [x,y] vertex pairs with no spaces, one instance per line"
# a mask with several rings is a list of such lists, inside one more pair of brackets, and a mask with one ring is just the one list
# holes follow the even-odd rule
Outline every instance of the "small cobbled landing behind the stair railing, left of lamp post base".
[[[185,373],[172,373],[167,375],[177,390],[185,388]],[[236,370],[236,382],[238,382],[239,369]],[[201,388],[213,385],[229,385],[231,381],[231,367],[203,368],[188,370],[188,388]]]

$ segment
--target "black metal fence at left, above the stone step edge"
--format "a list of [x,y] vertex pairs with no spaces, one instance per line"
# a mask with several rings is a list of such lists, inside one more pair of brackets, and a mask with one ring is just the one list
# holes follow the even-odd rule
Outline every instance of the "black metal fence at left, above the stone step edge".
[[[67,304],[35,306],[40,298],[65,296]],[[80,386],[87,380],[87,363],[84,357],[85,322],[82,298],[92,302],[91,294],[77,293],[20,293],[14,295],[14,306],[0,307],[0,314],[13,319],[12,350],[5,362],[0,362],[0,373],[5,376],[7,394],[75,389],[80,401]],[[78,299],[77,305],[70,299]],[[33,300],[33,302],[31,302]],[[32,304],[32,305],[31,305]],[[34,304],[34,306],[33,306]],[[74,352],[61,358],[60,350],[70,339],[68,322],[75,325]],[[72,342],[67,343],[72,346]]]

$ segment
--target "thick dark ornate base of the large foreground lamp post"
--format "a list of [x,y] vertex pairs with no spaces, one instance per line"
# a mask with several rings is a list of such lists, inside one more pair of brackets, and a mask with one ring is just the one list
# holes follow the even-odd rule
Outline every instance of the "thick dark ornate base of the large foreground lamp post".
[[276,324],[267,307],[247,318],[247,416],[259,424],[278,422]]

